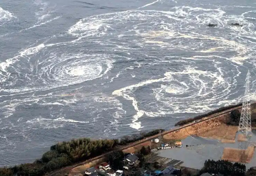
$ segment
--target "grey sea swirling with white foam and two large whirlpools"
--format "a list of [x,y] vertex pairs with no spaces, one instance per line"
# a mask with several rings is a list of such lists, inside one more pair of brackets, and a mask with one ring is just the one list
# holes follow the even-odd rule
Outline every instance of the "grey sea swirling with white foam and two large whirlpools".
[[255,100],[255,19],[253,0],[0,1],[0,165],[238,103],[248,69]]

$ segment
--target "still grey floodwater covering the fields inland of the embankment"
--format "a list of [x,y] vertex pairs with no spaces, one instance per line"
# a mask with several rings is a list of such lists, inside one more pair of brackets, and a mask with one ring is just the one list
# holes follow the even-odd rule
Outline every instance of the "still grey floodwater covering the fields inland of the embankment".
[[[256,131],[253,130],[252,142],[256,142]],[[183,147],[159,150],[159,156],[182,160],[184,163],[181,166],[201,169],[204,161],[208,159],[219,160],[221,159],[223,149],[225,147],[238,148],[238,142],[235,143],[222,143],[219,140],[210,138],[201,138],[189,136],[182,140]],[[186,145],[194,145],[186,147]],[[256,166],[255,154],[250,163],[246,163],[246,168]]]

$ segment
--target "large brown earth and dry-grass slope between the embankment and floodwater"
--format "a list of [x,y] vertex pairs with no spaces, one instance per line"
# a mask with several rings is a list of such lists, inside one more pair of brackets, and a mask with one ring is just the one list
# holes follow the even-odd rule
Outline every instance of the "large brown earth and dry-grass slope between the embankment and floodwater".
[[235,140],[238,127],[226,125],[229,114],[220,115],[218,118],[209,119],[192,126],[164,135],[165,139],[185,139],[190,135],[206,138]]

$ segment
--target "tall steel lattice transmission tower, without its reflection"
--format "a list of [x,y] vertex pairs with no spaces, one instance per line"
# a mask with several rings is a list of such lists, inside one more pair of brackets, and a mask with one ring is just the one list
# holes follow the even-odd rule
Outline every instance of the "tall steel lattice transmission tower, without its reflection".
[[238,133],[249,137],[252,133],[251,108],[250,108],[250,72],[248,70],[245,83],[245,96],[241,111]]

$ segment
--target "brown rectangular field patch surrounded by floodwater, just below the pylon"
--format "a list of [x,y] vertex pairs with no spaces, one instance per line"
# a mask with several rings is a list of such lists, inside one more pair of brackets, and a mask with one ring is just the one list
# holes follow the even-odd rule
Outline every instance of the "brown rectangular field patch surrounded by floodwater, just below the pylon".
[[249,163],[254,155],[254,147],[248,147],[246,150],[237,148],[224,148],[221,159],[234,162]]

